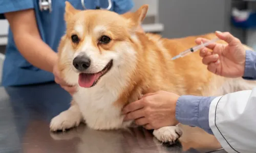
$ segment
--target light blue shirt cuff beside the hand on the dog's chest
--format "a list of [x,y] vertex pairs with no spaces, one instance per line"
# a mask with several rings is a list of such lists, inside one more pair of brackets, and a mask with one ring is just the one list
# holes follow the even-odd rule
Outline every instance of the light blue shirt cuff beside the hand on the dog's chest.
[[214,98],[216,97],[180,96],[176,104],[176,119],[182,124],[198,126],[212,134],[209,126],[209,109]]

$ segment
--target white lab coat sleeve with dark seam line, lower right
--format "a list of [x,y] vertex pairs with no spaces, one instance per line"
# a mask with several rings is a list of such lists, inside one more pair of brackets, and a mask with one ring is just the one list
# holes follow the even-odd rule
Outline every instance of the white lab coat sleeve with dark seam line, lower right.
[[256,88],[212,100],[209,125],[227,152],[256,152]]

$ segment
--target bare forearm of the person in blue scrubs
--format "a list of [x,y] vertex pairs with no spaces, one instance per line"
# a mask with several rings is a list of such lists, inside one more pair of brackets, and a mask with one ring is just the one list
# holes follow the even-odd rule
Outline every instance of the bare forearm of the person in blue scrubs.
[[42,41],[37,29],[33,9],[5,13],[10,24],[15,44],[28,62],[52,72],[57,54]]

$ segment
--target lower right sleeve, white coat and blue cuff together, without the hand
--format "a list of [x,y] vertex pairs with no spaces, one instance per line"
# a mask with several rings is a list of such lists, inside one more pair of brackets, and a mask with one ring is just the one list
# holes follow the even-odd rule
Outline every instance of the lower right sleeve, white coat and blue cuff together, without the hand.
[[176,118],[214,134],[228,152],[256,150],[256,89],[220,97],[180,96]]

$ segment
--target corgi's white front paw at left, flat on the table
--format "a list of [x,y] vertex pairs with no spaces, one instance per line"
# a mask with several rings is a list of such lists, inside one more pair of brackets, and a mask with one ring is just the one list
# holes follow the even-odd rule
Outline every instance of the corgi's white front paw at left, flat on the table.
[[60,113],[55,116],[50,123],[51,131],[71,129],[72,127],[78,126],[81,122],[81,114],[70,110]]

